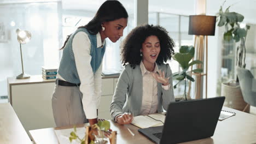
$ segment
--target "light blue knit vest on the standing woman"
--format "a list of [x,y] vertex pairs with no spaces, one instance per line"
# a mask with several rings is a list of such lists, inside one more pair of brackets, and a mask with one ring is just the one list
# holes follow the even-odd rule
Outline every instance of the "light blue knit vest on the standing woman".
[[58,70],[58,73],[60,74],[63,79],[65,79],[68,82],[71,83],[80,83],[80,79],[77,73],[77,67],[75,65],[75,60],[74,60],[74,53],[72,49],[72,41],[74,38],[74,35],[77,34],[78,32],[85,32],[88,34],[88,37],[91,41],[91,68],[92,71],[95,73],[97,69],[101,65],[102,58],[104,56],[105,52],[105,45],[103,48],[97,47],[97,38],[96,35],[90,34],[86,28],[79,28],[77,31],[75,31],[71,37],[69,37],[65,48],[63,49],[62,52],[62,57],[61,57],[61,62],[60,62],[60,67]]

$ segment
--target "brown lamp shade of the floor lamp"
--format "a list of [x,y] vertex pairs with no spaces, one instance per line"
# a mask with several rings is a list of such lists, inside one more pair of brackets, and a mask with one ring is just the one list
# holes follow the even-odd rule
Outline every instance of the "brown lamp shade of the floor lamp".
[[214,35],[216,16],[190,15],[189,34],[192,35]]

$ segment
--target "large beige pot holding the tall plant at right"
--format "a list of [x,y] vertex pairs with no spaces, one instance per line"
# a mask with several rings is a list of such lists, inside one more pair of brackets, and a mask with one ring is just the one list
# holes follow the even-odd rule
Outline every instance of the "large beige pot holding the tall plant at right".
[[[238,82],[223,82],[221,96],[226,97],[223,106],[243,111],[247,105],[243,100],[240,84]],[[249,112],[249,106],[245,112]]]

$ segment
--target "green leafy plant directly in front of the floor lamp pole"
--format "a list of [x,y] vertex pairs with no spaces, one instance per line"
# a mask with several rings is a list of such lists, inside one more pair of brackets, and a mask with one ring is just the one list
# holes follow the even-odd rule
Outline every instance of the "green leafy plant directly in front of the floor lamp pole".
[[[201,61],[199,60],[195,60],[195,61],[191,61],[191,59],[194,57],[195,55],[195,48],[194,46],[181,46],[181,48],[179,49],[179,52],[176,52],[173,56],[173,59],[175,61],[177,61],[182,68],[182,71],[176,72],[172,74],[173,80],[178,80],[178,82],[176,83],[176,85],[173,86],[173,88],[176,88],[178,83],[184,81],[185,83],[185,87],[184,87],[184,97],[185,100],[187,100],[187,92],[186,92],[186,88],[187,88],[187,81],[191,81],[194,82],[194,78],[191,77],[191,73],[202,73],[202,69],[194,69],[192,71],[188,71],[190,67],[192,67],[194,64],[202,64]],[[190,62],[191,61],[191,62]]]

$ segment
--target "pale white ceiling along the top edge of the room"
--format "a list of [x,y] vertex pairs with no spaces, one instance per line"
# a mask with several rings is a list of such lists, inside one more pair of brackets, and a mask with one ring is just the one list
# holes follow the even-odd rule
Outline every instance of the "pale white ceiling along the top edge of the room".
[[[105,0],[62,0],[62,8],[96,11],[104,1]],[[129,14],[133,14],[133,0],[120,0],[120,2],[124,5]],[[195,2],[196,0],[149,0],[149,13],[158,11],[162,13],[193,15],[195,14]],[[206,0],[207,15],[216,15],[223,2],[223,0]],[[229,5],[232,5],[230,11],[241,13],[245,16],[245,21],[247,22],[256,23],[256,9],[254,8],[256,6],[256,0],[229,0],[224,4],[224,8]]]

